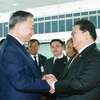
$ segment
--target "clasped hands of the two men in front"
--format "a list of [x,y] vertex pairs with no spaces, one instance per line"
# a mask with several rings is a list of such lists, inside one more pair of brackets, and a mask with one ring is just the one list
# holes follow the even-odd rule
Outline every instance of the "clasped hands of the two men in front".
[[52,74],[47,74],[47,75],[44,75],[42,80],[46,80],[47,83],[50,85],[50,93],[53,94],[55,92],[55,88],[54,88],[54,84],[55,82],[57,82],[57,79],[54,75]]

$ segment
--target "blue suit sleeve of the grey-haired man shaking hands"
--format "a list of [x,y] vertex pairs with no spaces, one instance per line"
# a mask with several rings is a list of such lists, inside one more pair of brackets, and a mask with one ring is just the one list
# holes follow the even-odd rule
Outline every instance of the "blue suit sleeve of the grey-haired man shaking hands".
[[[5,50],[3,67],[11,86],[23,92],[48,92],[50,86],[29,69],[29,65],[22,54],[14,48]],[[34,66],[33,66],[34,68]]]

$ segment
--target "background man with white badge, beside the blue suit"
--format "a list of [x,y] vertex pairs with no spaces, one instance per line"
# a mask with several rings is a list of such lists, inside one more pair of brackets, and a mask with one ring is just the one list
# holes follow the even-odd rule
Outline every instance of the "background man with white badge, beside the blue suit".
[[39,48],[40,42],[37,39],[31,39],[28,42],[28,51],[30,52],[33,61],[35,61],[36,57],[38,71],[40,73],[40,76],[42,77],[44,72],[44,62],[47,58],[44,55],[38,53]]

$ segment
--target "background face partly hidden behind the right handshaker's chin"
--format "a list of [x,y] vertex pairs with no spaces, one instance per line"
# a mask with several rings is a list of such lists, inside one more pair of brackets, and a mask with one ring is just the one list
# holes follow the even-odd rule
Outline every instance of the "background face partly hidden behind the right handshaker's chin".
[[73,48],[73,44],[72,41],[68,41],[67,45],[66,45],[66,55],[68,57],[71,57],[75,54],[75,49]]

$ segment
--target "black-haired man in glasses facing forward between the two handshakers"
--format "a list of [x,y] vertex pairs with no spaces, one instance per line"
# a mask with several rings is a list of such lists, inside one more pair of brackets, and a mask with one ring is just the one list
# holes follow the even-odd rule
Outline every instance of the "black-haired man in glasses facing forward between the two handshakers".
[[[57,79],[59,79],[67,63],[67,57],[63,54],[64,43],[60,39],[53,39],[50,42],[50,47],[54,57],[45,61],[44,73],[52,73]],[[55,97],[55,94],[48,94],[47,100],[55,100]]]

